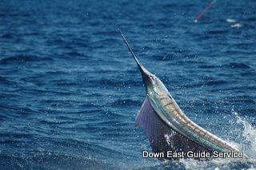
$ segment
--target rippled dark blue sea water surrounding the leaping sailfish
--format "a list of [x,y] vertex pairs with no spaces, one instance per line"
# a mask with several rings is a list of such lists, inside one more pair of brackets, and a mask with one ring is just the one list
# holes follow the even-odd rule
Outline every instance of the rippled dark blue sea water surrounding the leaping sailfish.
[[[1,1],[0,169],[255,168],[256,2],[194,24],[209,3]],[[252,160],[143,159],[145,89],[118,28],[190,119]]]

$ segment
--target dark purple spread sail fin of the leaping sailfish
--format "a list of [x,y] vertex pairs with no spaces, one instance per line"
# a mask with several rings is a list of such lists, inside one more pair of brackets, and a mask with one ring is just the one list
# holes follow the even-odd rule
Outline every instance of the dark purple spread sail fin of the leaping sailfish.
[[166,125],[155,113],[147,97],[136,117],[135,124],[146,132],[154,152],[211,152],[209,148],[203,147]]

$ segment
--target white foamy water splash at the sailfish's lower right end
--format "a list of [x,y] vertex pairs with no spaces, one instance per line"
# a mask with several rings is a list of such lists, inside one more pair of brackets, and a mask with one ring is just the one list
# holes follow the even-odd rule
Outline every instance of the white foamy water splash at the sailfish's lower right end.
[[[238,116],[232,109],[235,121],[230,121],[232,132],[238,136],[241,143],[230,142],[230,144],[241,148],[249,159],[214,159],[210,161],[179,160],[185,169],[255,169],[256,168],[256,128],[254,128],[245,118]],[[240,126],[239,126],[240,125]],[[234,128],[233,128],[234,126]]]

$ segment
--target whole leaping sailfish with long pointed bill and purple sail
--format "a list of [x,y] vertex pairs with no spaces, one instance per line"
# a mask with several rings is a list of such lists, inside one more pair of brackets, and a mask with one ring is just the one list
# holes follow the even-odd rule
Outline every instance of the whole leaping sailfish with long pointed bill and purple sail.
[[[146,98],[138,111],[135,125],[145,131],[153,152],[210,152],[211,156],[215,151],[240,152],[186,117],[162,81],[139,63],[124,34],[119,31],[146,86]],[[176,160],[164,155],[164,159]]]

